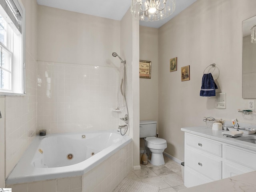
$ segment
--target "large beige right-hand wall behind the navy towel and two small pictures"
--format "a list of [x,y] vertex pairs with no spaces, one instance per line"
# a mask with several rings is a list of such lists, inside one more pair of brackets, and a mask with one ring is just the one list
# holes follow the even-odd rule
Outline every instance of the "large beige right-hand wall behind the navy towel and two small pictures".
[[[242,20],[256,14],[254,0],[198,0],[159,29],[159,134],[168,142],[166,152],[184,160],[182,127],[204,126],[213,116],[256,123],[243,115]],[[169,72],[170,58],[178,70]],[[214,97],[200,97],[204,69],[220,69],[219,90],[226,93],[226,109],[214,108]],[[180,68],[190,65],[190,80],[181,82]],[[216,77],[216,74],[214,74]]]

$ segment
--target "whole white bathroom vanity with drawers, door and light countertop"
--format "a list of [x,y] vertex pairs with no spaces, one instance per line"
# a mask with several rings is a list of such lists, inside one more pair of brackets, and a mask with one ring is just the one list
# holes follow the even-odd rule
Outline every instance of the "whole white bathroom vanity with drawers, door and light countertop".
[[[229,138],[206,126],[185,132],[184,185],[197,186],[256,170],[256,135]],[[248,142],[249,141],[249,142]]]

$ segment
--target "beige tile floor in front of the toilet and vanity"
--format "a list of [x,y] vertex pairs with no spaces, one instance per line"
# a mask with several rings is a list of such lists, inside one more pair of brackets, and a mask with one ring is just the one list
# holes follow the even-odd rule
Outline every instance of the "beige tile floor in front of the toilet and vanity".
[[186,188],[182,180],[180,164],[167,156],[164,156],[164,162],[162,166],[153,166],[149,162],[147,165],[140,164],[141,169],[130,171],[127,178],[158,186],[159,192],[177,192]]

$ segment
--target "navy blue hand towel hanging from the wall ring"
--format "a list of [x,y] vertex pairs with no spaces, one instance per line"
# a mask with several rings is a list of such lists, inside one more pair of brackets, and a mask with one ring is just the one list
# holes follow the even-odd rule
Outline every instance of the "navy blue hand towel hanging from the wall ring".
[[215,89],[218,89],[211,73],[204,74],[202,78],[202,86],[200,90],[200,96],[210,97],[215,96]]

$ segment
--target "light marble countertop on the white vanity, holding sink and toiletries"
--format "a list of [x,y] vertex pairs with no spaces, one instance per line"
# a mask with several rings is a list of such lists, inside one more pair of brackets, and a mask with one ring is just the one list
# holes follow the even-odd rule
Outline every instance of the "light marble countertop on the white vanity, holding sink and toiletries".
[[[187,132],[187,133],[195,134],[195,135],[209,138],[212,140],[225,142],[225,143],[231,144],[233,146],[239,146],[242,148],[256,151],[256,144],[254,144],[254,143],[237,140],[235,138],[224,137],[221,133],[226,130],[216,131],[216,130],[207,128],[206,126],[186,127],[186,128],[181,128],[181,130],[184,132]],[[256,134],[243,134],[242,135],[242,137],[251,137],[251,136],[256,137]]]

